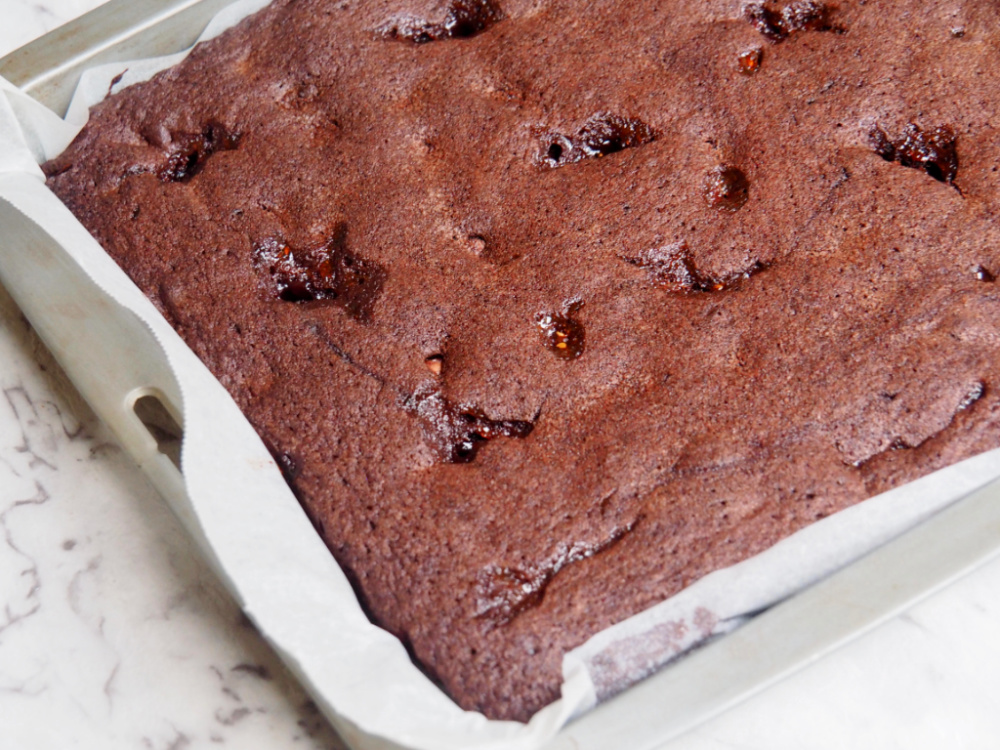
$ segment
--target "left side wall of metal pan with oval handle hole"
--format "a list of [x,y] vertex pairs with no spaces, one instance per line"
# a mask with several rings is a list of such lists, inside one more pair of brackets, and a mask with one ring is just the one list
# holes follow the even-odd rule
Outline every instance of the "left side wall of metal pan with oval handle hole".
[[[24,192],[47,192],[33,178],[23,181]],[[188,506],[179,460],[183,397],[156,336],[4,198],[0,227],[0,282],[80,395],[180,512]]]

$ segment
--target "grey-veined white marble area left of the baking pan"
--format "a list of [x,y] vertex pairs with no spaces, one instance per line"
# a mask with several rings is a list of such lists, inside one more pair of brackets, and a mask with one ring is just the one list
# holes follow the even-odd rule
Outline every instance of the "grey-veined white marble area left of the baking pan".
[[341,745],[0,290],[0,748]]

